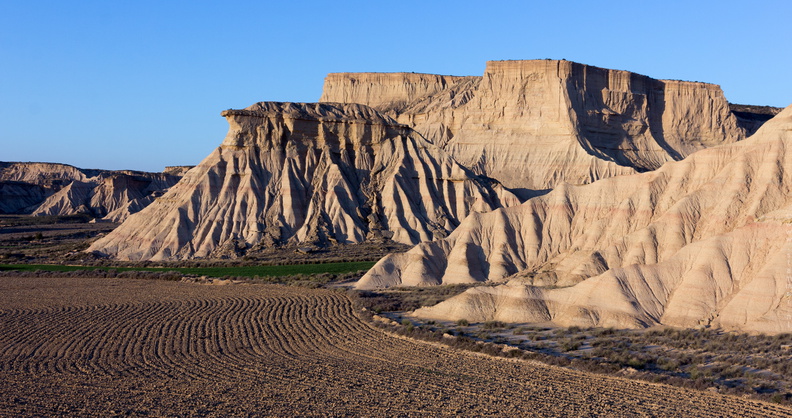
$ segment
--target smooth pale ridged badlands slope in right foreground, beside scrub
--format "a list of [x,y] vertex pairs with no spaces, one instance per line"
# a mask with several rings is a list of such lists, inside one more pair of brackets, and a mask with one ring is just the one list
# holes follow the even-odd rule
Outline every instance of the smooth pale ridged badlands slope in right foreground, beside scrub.
[[747,140],[470,216],[357,286],[508,281],[424,318],[790,332],[790,144],[792,106]]

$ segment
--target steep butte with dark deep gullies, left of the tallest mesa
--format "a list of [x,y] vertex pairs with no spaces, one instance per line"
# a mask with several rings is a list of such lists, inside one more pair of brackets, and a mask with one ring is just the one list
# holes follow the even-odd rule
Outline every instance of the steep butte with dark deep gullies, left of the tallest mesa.
[[473,211],[518,204],[374,109],[257,103],[222,113],[221,146],[89,250],[120,259],[231,248],[446,236]]

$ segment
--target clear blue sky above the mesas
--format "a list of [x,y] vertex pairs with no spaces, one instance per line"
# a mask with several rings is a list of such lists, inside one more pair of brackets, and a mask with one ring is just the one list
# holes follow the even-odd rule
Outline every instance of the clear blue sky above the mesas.
[[568,59],[792,103],[792,2],[0,0],[0,160],[161,171],[330,72]]

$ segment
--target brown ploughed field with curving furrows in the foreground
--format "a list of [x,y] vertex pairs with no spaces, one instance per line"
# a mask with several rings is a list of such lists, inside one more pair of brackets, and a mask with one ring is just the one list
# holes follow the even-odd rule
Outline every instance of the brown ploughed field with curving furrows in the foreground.
[[388,334],[331,290],[0,278],[0,415],[792,416]]

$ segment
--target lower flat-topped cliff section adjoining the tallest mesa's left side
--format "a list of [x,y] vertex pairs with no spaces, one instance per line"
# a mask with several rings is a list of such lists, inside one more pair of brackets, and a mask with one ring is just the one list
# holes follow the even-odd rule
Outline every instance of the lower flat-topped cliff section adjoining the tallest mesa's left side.
[[383,112],[401,111],[424,96],[448,89],[459,77],[420,73],[331,73],[325,78],[320,102],[360,103]]

